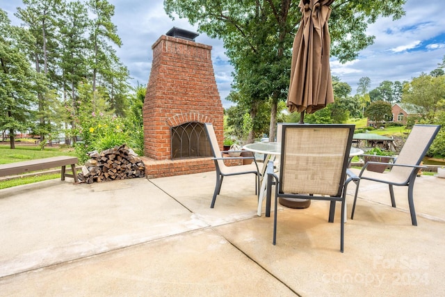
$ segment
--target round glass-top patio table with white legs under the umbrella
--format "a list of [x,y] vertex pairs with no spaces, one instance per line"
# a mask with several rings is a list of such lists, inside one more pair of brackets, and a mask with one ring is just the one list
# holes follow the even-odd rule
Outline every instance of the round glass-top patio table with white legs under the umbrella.
[[[275,161],[277,156],[280,156],[281,154],[281,143],[277,142],[271,142],[271,143],[249,143],[247,145],[243,146],[244,150],[248,150],[250,152],[258,153],[258,154],[264,154],[264,163],[263,167],[261,168],[261,188],[259,189],[259,195],[258,195],[258,209],[257,209],[257,215],[261,216],[261,207],[262,207],[262,201],[264,200],[264,195],[266,193],[267,188],[267,178],[264,178],[264,175],[266,174],[266,168],[268,161]],[[353,156],[359,156],[363,154],[364,152],[360,150],[357,147],[351,147],[350,148],[350,159],[353,158]],[[345,203],[346,207],[346,203]],[[346,209],[345,209],[346,213]],[[266,203],[266,216],[270,216],[270,204]]]

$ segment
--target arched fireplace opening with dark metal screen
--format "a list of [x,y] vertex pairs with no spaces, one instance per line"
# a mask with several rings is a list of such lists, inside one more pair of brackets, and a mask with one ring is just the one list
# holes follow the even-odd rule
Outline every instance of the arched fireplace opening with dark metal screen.
[[172,160],[212,156],[204,124],[186,122],[171,128]]

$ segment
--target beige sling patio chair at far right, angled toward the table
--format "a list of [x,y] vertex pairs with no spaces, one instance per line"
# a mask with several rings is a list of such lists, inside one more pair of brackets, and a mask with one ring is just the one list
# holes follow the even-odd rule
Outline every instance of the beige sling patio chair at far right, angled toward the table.
[[[351,219],[354,218],[360,180],[368,179],[373,182],[382,182],[389,185],[389,195],[391,196],[392,207],[396,207],[393,186],[407,186],[412,225],[417,225],[413,199],[414,181],[416,180],[419,170],[421,168],[426,168],[426,166],[421,166],[420,164],[432,141],[439,132],[439,129],[440,125],[414,125],[410,136],[408,136],[400,154],[398,154],[393,163],[369,161],[364,164],[359,173],[359,181],[356,182],[357,187],[355,188],[353,211],[350,216]],[[366,170],[371,164],[385,164],[389,166],[390,171],[379,173]]]

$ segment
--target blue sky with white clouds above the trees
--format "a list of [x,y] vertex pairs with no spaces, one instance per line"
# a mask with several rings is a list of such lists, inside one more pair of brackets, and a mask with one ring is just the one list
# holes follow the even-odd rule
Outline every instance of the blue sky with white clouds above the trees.
[[[170,19],[163,10],[161,0],[108,0],[115,6],[113,22],[123,45],[118,49],[122,63],[129,68],[131,83],[146,84],[152,65],[152,45],[172,26],[196,31],[186,19]],[[0,0],[0,8],[6,10],[13,24],[19,24],[13,16],[21,0]],[[406,15],[397,21],[390,18],[378,19],[369,25],[368,33],[375,35],[375,42],[359,53],[355,61],[340,64],[331,59],[332,74],[349,83],[357,90],[361,77],[371,79],[371,89],[380,82],[410,81],[422,72],[429,73],[437,68],[445,56],[444,1],[408,0]],[[197,42],[211,45],[213,69],[223,106],[232,83],[232,66],[224,52],[223,42],[201,34]]]

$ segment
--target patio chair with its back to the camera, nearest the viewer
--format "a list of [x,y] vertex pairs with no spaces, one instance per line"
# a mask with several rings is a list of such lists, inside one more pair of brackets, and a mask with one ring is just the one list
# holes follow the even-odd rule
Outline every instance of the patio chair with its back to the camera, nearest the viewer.
[[[336,202],[341,202],[340,250],[343,252],[346,179],[354,125],[283,125],[280,172],[268,163],[268,195],[275,185],[273,244],[277,237],[278,198],[330,201],[329,222]],[[292,210],[295,214],[298,209]]]

